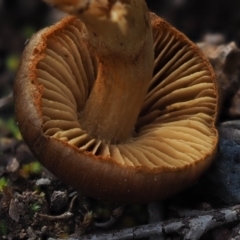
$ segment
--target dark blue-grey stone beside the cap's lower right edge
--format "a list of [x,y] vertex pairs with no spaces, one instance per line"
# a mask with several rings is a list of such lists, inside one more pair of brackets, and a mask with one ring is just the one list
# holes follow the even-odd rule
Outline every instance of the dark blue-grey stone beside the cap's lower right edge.
[[220,138],[217,157],[198,186],[207,196],[214,196],[229,205],[239,204],[240,145]]

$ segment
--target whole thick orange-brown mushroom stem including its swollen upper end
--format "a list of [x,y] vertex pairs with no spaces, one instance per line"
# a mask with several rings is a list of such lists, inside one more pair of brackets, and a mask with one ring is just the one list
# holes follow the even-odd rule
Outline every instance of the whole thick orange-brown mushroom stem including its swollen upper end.
[[133,134],[153,71],[145,1],[50,2],[85,23],[84,39],[98,61],[97,79],[80,114],[82,128],[108,143],[126,142]]

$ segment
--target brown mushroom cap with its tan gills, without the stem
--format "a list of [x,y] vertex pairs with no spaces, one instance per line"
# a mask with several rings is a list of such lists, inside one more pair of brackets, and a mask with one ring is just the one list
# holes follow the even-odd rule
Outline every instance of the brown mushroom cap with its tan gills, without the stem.
[[[202,52],[150,14],[154,71],[135,135],[111,144],[81,129],[98,62],[73,16],[35,34],[14,86],[16,119],[36,158],[87,196],[150,202],[193,184],[215,157],[219,106],[213,70]],[[99,123],[100,125],[101,123]]]

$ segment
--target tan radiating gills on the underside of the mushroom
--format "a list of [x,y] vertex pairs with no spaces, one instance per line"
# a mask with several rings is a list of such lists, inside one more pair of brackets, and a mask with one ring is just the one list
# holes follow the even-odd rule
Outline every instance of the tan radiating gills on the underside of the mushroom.
[[217,89],[210,67],[184,35],[151,18],[153,77],[135,131],[118,144],[93,137],[81,126],[80,113],[97,75],[97,60],[82,40],[82,23],[68,17],[68,24],[45,36],[44,57],[36,66],[45,135],[123,166],[157,171],[184,168],[211,154]]

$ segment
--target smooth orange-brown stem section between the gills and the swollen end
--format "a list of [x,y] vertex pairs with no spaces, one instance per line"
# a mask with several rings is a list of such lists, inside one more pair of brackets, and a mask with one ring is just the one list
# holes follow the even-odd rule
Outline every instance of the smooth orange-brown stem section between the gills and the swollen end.
[[97,80],[80,117],[90,135],[111,143],[132,136],[151,79],[147,69],[142,71],[144,55],[135,61],[100,61]]

